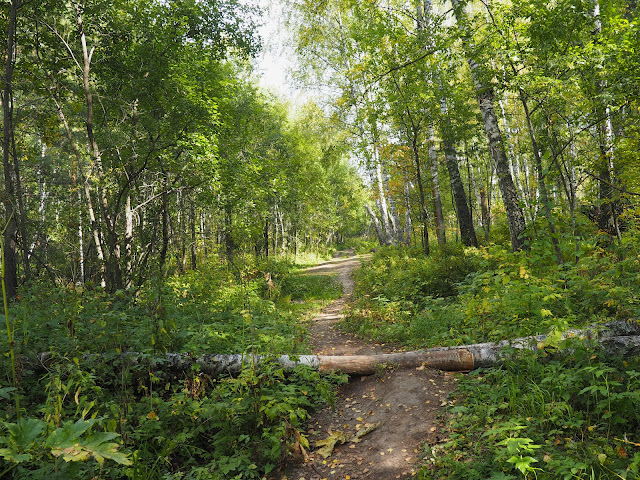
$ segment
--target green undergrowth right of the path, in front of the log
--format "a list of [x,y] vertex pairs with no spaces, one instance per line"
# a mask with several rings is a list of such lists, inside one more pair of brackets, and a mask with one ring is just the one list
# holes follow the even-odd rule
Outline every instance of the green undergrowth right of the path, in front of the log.
[[[640,478],[640,362],[571,345],[464,378],[419,478]],[[464,461],[461,461],[464,459]]]

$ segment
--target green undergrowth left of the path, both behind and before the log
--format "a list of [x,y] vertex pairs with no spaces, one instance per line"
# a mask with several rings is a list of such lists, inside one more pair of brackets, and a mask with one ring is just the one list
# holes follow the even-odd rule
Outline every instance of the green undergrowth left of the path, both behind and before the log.
[[[285,373],[267,362],[237,378],[209,378],[197,366],[175,378],[162,365],[151,369],[120,356],[305,353],[301,320],[341,291],[333,278],[299,268],[284,261],[211,263],[135,295],[67,287],[25,292],[11,309],[18,353],[55,354],[43,376],[21,364],[18,390],[2,372],[0,474],[248,479],[302,454],[302,424],[310,410],[331,402],[341,377],[303,367]],[[87,352],[101,360],[83,359]],[[8,401],[18,394],[19,417]]]

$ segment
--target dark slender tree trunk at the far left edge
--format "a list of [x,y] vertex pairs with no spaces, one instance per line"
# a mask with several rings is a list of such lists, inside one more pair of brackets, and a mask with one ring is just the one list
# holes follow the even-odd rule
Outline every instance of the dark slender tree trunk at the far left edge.
[[14,182],[11,168],[11,146],[13,143],[13,71],[15,67],[15,33],[20,0],[12,0],[7,24],[7,58],[5,62],[4,90],[2,95],[3,138],[2,154],[4,167],[5,222],[4,227],[4,284],[7,297],[15,298],[18,293],[18,246],[16,243],[17,220],[14,209]]

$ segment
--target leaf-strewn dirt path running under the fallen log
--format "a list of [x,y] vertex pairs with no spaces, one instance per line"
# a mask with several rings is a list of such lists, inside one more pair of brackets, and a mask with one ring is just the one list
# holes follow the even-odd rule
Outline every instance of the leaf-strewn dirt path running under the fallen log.
[[[375,355],[395,351],[393,346],[370,344],[338,328],[342,311],[353,292],[352,272],[363,260],[352,251],[340,252],[331,261],[310,268],[309,273],[337,275],[343,296],[324,308],[309,325],[309,342],[318,355]],[[352,376],[342,385],[333,408],[326,407],[308,423],[305,434],[310,452],[306,461],[287,466],[282,480],[405,479],[424,464],[424,444],[439,443],[445,436],[440,413],[456,377],[424,367],[381,369],[376,375]],[[356,432],[371,429],[350,441]],[[337,442],[323,458],[316,442],[328,437]]]

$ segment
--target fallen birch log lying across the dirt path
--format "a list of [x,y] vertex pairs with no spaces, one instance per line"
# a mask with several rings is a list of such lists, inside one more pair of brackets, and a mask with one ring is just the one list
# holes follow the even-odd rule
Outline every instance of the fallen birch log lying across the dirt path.
[[[605,325],[588,327],[582,330],[567,330],[559,339],[575,339],[577,341],[598,343],[606,352],[624,355],[640,354],[640,321],[617,321]],[[275,360],[285,368],[296,365],[308,365],[322,372],[342,371],[350,375],[370,375],[378,371],[381,366],[390,365],[402,367],[425,367],[445,371],[469,371],[474,368],[489,367],[502,361],[505,347],[512,349],[536,350],[547,346],[551,339],[547,335],[503,340],[501,342],[462,345],[459,347],[437,347],[413,352],[387,353],[379,355],[281,355]],[[86,355],[90,360],[95,355]],[[27,360],[32,367],[44,367],[52,359],[47,352],[38,355],[37,361]],[[134,352],[122,354],[123,359],[133,364],[149,362],[148,356]],[[210,376],[225,374],[235,375],[246,364],[257,364],[267,358],[261,355],[232,354],[232,355],[200,355],[187,353],[167,353],[164,357],[151,359],[156,370],[173,373],[189,371],[194,364],[199,370]]]

